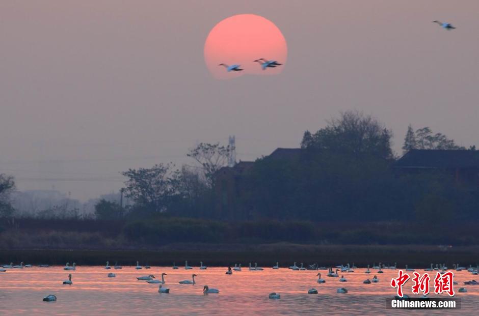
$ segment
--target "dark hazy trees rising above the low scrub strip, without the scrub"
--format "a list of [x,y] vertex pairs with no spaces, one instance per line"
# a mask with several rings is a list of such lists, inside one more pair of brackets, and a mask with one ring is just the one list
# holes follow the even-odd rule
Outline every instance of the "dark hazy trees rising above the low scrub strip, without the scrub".
[[[98,219],[138,219],[154,214],[214,220],[440,222],[478,219],[477,194],[438,171],[401,174],[394,168],[392,132],[383,123],[358,111],[340,113],[314,133],[305,131],[298,159],[257,159],[241,178],[234,203],[217,212],[215,176],[233,148],[200,143],[187,156],[194,165],[177,168],[158,163],[128,169],[122,189],[133,203],[123,207],[100,200]],[[408,127],[403,150],[464,150],[429,127]],[[475,147],[470,147],[475,150]],[[0,175],[0,217],[13,216],[8,195],[12,177]]]

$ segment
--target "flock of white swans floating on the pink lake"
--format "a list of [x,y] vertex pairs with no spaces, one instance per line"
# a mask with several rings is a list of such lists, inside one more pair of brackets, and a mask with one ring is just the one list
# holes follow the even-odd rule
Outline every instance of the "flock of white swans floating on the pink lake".
[[[13,263],[10,263],[9,265],[2,266],[2,268],[0,269],[0,272],[6,272],[7,269],[23,269],[23,268],[31,268],[31,267],[32,267],[32,265],[24,265],[23,262],[21,262],[20,265],[13,265]],[[47,268],[49,266],[48,265],[39,265],[37,267]],[[479,265],[477,265],[475,268],[472,267],[472,265],[469,265],[469,268],[466,268],[466,267],[461,267],[459,264],[454,264],[453,267],[454,267],[453,270],[456,270],[456,271],[463,271],[463,270],[466,271],[467,270],[467,272],[469,272],[471,275],[478,275],[479,274]],[[138,261],[137,261],[137,265],[135,266],[136,270],[150,269],[150,268],[151,268],[150,266],[143,266],[143,267],[140,266]],[[339,265],[339,266],[336,266],[335,268],[320,267],[317,264],[313,264],[313,265],[309,265],[306,268],[306,267],[304,267],[303,263],[301,263],[300,266],[297,266],[296,262],[292,266],[288,267],[288,269],[290,269],[292,271],[328,270],[328,273],[326,274],[326,276],[327,277],[332,277],[332,278],[337,277],[339,282],[348,282],[348,278],[345,277],[345,275],[347,275],[348,273],[354,272],[354,269],[356,269],[356,268],[357,267],[354,265],[354,263],[353,263],[353,265],[350,265],[350,264]],[[76,270],[76,264],[73,263],[70,266],[69,263],[66,263],[66,265],[65,265],[65,267],[63,267],[63,269],[66,270],[66,271],[75,271]],[[105,270],[112,269],[112,266],[110,266],[110,263],[108,261],[107,261],[107,264],[104,266],[104,269]],[[119,266],[117,263],[115,263],[115,265],[113,266],[113,269],[122,269],[122,267]],[[172,269],[178,269],[178,266],[176,266],[176,264],[173,263]],[[188,265],[188,261],[185,261],[184,269],[185,270],[192,270],[193,267]],[[200,262],[200,266],[198,267],[198,269],[199,270],[206,270],[207,267],[203,265],[203,262]],[[279,263],[276,262],[276,265],[274,265],[272,267],[272,269],[273,270],[280,269]],[[379,263],[379,265],[373,264],[372,267],[367,265],[367,268],[364,271],[364,273],[365,274],[370,274],[371,273],[370,269],[375,269],[375,270],[377,270],[376,274],[381,274],[381,273],[384,273],[383,270],[386,270],[386,269],[393,269],[393,270],[397,269],[397,265],[394,264],[393,266],[388,266],[388,265],[385,265],[385,264],[382,264],[382,263]],[[255,263],[254,266],[252,266],[252,264],[249,263],[248,270],[249,271],[262,271],[264,269],[261,268],[261,267],[258,267],[257,263]],[[414,272],[415,271],[415,269],[409,268],[408,265],[405,266],[404,270],[407,271],[407,272]],[[423,270],[424,271],[437,271],[438,273],[443,274],[443,273],[445,273],[445,271],[448,270],[448,268],[445,266],[445,264],[436,264],[436,266],[431,264],[430,268],[426,268],[426,269],[423,269]],[[241,264],[235,264],[234,267],[228,267],[228,271],[226,271],[225,274],[226,275],[232,275],[233,271],[235,271],[235,272],[242,271]],[[338,272],[341,272],[341,274],[339,274]],[[369,279],[369,278],[365,279],[362,283],[363,284],[378,283],[379,278],[376,274],[371,279]],[[170,293],[170,289],[166,288],[164,286],[166,284],[166,281],[165,281],[165,276],[166,275],[167,275],[166,273],[162,273],[161,274],[161,280],[156,279],[156,277],[153,274],[139,276],[139,277],[137,277],[137,280],[146,281],[147,283],[153,283],[153,284],[156,283],[159,286],[158,287],[158,293],[168,294],[168,293]],[[116,275],[114,273],[110,272],[110,273],[108,273],[107,276],[108,277],[115,277]],[[179,284],[196,284],[196,281],[195,281],[196,276],[197,275],[193,273],[192,276],[191,276],[191,279],[181,280],[181,281],[178,281],[178,283]],[[321,283],[326,283],[326,280],[322,278],[321,273],[317,273],[316,276],[317,276],[317,280],[316,280],[317,283],[320,283],[320,284]],[[72,282],[71,279],[72,279],[72,274],[70,273],[70,274],[68,274],[68,280],[63,281],[63,284],[72,285],[73,282]],[[458,284],[458,282],[456,282],[456,281],[454,283]],[[479,282],[477,282],[475,280],[470,280],[470,281],[465,281],[464,284],[466,284],[466,285],[479,285]],[[466,293],[467,289],[466,288],[460,288],[458,292]],[[218,294],[218,293],[220,293],[220,290],[218,290],[218,289],[209,288],[208,285],[203,286],[203,294]],[[307,293],[308,294],[318,294],[318,291],[317,291],[317,289],[312,288],[312,289],[309,289]],[[346,294],[346,293],[348,293],[348,289],[344,288],[344,287],[341,287],[341,288],[337,289],[336,293]],[[426,296],[423,296],[423,297],[426,298]],[[279,293],[273,292],[269,295],[269,298],[270,299],[280,299],[281,295]],[[408,299],[409,296],[404,295],[403,298]],[[48,301],[48,302],[56,301],[57,297],[55,295],[47,295],[43,298],[43,300]]]

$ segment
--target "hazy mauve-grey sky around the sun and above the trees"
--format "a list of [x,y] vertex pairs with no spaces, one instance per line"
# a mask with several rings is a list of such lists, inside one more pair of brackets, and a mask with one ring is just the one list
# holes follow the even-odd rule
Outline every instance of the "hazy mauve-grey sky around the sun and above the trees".
[[[282,31],[280,75],[208,73],[208,32],[240,13]],[[198,141],[236,135],[242,160],[298,147],[347,109],[391,128],[396,152],[409,123],[479,145],[478,13],[477,0],[2,0],[0,173],[86,199],[127,168],[188,162]]]

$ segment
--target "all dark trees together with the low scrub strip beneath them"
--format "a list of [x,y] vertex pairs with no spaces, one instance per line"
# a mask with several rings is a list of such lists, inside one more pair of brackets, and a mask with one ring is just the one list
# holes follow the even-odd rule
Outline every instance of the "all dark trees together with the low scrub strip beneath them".
[[[13,178],[0,175],[0,249],[155,249],[171,243],[375,245],[479,244],[479,190],[443,172],[394,168],[392,133],[374,118],[345,112],[306,131],[297,159],[258,159],[241,192],[219,212],[215,174],[232,148],[201,143],[196,166],[129,169],[134,204],[101,200],[91,218],[15,216]],[[429,128],[408,128],[404,150],[464,149]],[[471,147],[470,150],[475,150]],[[49,214],[49,216],[44,216]]]

